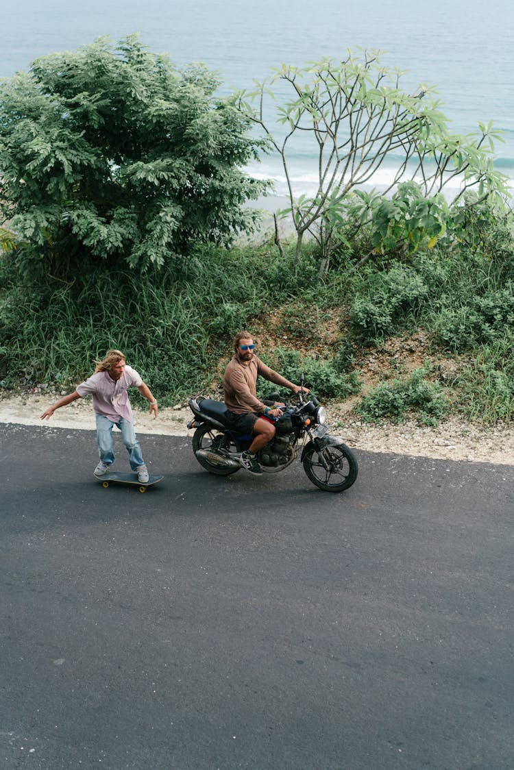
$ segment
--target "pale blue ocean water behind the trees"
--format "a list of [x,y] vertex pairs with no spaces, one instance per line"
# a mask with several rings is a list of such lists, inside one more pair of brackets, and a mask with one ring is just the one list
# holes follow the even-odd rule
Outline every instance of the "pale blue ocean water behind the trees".
[[[495,166],[514,184],[514,6],[511,0],[17,0],[2,2],[0,76],[29,69],[49,52],[79,48],[99,35],[117,41],[139,32],[176,65],[205,62],[220,73],[220,92],[251,88],[272,68],[303,65],[348,49],[378,49],[386,65],[405,71],[401,83],[435,86],[452,131],[467,134],[492,120],[504,132]],[[291,159],[297,195],[312,192],[315,152],[299,142]],[[279,160],[251,167],[285,191]],[[384,166],[373,182],[385,186]]]

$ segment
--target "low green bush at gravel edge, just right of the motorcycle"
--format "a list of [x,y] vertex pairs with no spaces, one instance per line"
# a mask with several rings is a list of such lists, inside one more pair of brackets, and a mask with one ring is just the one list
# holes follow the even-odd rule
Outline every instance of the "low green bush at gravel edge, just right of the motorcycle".
[[356,411],[367,422],[388,418],[402,422],[409,412],[415,411],[422,425],[437,425],[448,411],[449,402],[441,385],[427,379],[428,370],[420,368],[407,380],[380,383],[364,396]]

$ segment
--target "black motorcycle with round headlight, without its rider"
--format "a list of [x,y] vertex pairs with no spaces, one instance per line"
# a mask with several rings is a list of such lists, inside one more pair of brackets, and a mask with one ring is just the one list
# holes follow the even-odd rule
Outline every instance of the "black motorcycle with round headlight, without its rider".
[[[358,475],[356,457],[341,438],[328,435],[327,410],[317,398],[303,391],[297,396],[297,403],[280,407],[281,417],[264,417],[274,424],[275,435],[257,452],[260,467],[264,473],[279,473],[291,465],[301,447],[301,463],[316,487],[328,492],[348,489]],[[272,393],[271,399],[274,403],[280,396]],[[200,465],[217,476],[237,473],[241,452],[250,446],[252,437],[230,430],[223,401],[197,397],[188,403],[194,417],[187,427],[195,429],[193,452]]]

